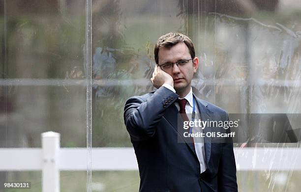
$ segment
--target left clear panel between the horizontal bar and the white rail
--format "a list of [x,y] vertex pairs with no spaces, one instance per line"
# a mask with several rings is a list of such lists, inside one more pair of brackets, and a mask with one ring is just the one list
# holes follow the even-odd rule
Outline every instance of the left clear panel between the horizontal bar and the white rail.
[[47,83],[31,79],[0,86],[5,90],[0,147],[41,147],[41,133],[47,131],[60,133],[61,147],[86,146],[85,86]]

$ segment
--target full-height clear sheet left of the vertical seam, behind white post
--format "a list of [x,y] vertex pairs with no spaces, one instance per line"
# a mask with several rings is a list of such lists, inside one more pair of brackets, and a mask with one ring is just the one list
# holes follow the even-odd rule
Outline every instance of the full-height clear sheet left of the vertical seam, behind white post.
[[[48,131],[60,133],[60,147],[87,146],[85,13],[83,0],[0,0],[0,149],[14,148],[9,155],[41,148]],[[31,164],[40,157],[19,157],[15,169],[1,166],[0,192],[12,191],[3,183],[14,181],[41,192],[42,164]],[[18,161],[9,158],[7,167]],[[85,190],[82,172],[61,171],[61,191]]]

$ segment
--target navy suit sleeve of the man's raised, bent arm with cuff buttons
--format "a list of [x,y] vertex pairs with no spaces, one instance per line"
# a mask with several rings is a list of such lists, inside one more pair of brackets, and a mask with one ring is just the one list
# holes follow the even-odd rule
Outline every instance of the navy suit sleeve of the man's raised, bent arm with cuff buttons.
[[132,140],[145,140],[155,134],[164,111],[179,96],[161,86],[151,96],[129,98],[124,107],[124,124]]

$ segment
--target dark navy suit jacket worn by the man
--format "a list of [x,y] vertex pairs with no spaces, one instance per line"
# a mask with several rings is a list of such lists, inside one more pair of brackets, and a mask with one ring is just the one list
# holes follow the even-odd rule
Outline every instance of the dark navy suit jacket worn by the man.
[[[177,131],[179,111],[174,104],[178,97],[162,86],[126,101],[124,123],[138,161],[139,192],[237,192],[232,142],[204,138],[207,169],[202,174],[194,144],[178,142],[182,137]],[[228,120],[225,110],[194,98],[202,120]]]

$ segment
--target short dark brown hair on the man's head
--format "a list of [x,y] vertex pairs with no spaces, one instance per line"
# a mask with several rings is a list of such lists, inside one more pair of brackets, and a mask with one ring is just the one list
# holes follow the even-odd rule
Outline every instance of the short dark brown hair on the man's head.
[[177,45],[178,43],[185,43],[186,46],[188,47],[191,58],[195,57],[194,46],[191,39],[188,36],[183,35],[182,33],[170,32],[161,36],[155,45],[154,56],[155,56],[156,63],[159,64],[158,54],[160,48],[162,47],[171,48],[172,46]]

